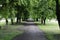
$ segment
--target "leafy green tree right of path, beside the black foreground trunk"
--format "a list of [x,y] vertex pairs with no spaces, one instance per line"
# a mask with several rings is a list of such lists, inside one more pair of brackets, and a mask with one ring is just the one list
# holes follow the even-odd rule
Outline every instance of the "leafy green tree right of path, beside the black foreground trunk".
[[[40,8],[40,18],[41,18],[41,23],[45,24],[46,18],[56,18],[55,14],[55,6],[56,3],[53,0],[41,0],[39,3]],[[54,16],[53,16],[54,15]]]

